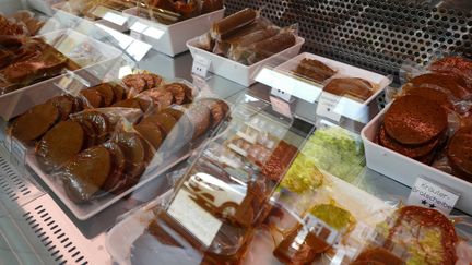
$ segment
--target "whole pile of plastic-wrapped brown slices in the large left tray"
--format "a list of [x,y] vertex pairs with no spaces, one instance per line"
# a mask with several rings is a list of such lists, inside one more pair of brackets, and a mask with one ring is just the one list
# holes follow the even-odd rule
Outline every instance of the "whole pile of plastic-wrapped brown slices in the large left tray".
[[119,194],[150,167],[197,141],[228,115],[226,103],[194,98],[186,83],[152,73],[84,88],[15,118],[11,137],[35,148],[42,176],[59,179],[74,203]]

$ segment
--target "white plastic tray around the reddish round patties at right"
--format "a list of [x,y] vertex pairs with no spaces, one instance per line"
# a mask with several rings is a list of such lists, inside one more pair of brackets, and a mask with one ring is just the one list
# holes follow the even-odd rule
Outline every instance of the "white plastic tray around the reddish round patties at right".
[[361,132],[364,141],[367,167],[408,186],[413,186],[417,177],[426,177],[438,184],[460,193],[457,208],[472,214],[472,183],[418,162],[397,152],[375,143],[377,132],[384,121],[384,111],[376,116]]

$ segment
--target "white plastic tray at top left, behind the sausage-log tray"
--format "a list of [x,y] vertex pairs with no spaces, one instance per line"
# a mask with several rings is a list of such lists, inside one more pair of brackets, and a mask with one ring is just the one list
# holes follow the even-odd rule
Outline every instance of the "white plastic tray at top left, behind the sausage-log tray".
[[131,35],[150,44],[153,49],[175,56],[188,50],[186,41],[208,32],[213,22],[223,19],[225,9],[199,15],[172,25],[160,24],[140,16],[135,16],[137,8],[125,10],[123,15],[134,19]]

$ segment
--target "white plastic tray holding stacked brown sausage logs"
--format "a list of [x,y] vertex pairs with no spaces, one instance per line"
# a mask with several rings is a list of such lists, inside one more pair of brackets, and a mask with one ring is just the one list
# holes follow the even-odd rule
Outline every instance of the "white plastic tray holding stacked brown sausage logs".
[[299,50],[302,49],[302,45],[305,43],[305,39],[297,36],[294,46],[251,65],[245,65],[213,52],[197,48],[197,41],[198,37],[187,41],[187,46],[189,47],[193,58],[196,55],[198,55],[211,61],[211,67],[209,69],[210,72],[244,86],[250,86],[251,84],[256,83],[256,75],[263,67],[276,67],[298,55]]

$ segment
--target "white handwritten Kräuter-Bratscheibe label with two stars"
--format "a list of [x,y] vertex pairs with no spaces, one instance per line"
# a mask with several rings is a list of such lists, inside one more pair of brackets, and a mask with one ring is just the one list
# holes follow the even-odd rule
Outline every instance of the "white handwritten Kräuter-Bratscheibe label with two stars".
[[436,183],[418,177],[412,188],[408,204],[434,208],[445,215],[449,215],[459,200],[459,196],[460,195],[457,193],[450,192]]

